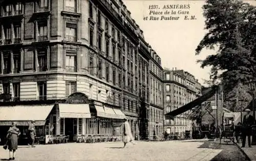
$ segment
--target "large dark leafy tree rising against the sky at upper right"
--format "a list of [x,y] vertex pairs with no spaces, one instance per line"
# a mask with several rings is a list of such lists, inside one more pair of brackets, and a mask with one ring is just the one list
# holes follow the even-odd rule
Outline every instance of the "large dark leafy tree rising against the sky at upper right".
[[230,90],[239,82],[253,79],[256,70],[255,7],[238,0],[207,0],[203,9],[208,33],[199,43],[196,54],[203,48],[218,48],[218,51],[198,60],[201,67],[211,66],[212,82],[219,79]]

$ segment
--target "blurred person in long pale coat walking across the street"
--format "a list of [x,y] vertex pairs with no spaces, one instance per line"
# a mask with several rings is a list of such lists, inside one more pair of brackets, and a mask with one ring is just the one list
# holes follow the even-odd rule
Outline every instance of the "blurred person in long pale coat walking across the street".
[[136,144],[134,142],[134,138],[133,138],[133,134],[131,131],[131,126],[128,122],[128,120],[126,118],[123,119],[124,123],[123,123],[123,143],[124,146],[123,148],[125,148],[125,145],[129,142],[133,143],[134,145]]

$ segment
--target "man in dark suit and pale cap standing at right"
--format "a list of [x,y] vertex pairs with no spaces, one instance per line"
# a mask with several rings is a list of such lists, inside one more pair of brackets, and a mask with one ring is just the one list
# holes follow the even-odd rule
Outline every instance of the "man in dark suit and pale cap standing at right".
[[243,126],[242,126],[242,147],[245,146],[246,136],[248,137],[248,146],[251,147],[251,125],[254,123],[253,116],[250,115],[250,109],[246,109],[246,115],[243,119]]

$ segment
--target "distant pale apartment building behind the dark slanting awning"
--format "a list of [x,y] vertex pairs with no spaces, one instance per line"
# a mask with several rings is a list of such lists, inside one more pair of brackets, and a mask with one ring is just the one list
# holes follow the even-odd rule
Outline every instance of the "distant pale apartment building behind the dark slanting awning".
[[[164,114],[201,96],[201,84],[188,72],[165,69],[163,76]],[[177,116],[174,120],[164,120],[164,130],[168,133],[180,133],[191,130],[191,124],[191,120]]]

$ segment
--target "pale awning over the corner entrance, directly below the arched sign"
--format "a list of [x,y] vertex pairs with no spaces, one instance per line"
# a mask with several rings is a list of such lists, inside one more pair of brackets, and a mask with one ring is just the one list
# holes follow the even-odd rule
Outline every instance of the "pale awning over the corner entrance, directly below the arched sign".
[[58,104],[60,118],[91,118],[89,104]]

